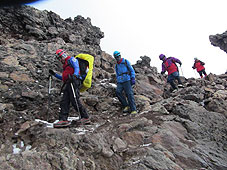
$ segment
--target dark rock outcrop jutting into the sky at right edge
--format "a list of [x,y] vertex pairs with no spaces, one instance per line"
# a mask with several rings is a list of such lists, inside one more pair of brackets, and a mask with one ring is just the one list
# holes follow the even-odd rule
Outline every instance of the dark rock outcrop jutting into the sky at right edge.
[[210,35],[209,39],[213,46],[219,47],[227,53],[227,31],[222,34]]

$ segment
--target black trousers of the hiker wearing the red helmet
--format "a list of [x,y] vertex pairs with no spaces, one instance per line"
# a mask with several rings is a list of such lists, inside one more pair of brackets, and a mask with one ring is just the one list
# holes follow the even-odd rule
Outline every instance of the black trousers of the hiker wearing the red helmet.
[[[81,80],[75,80],[81,81]],[[80,102],[80,92],[78,89],[78,84],[81,82],[73,83],[76,99],[74,99],[71,83],[66,83],[65,88],[63,89],[63,97],[60,102],[60,114],[59,120],[67,120],[69,116],[70,103],[76,111],[78,111],[77,106],[79,107],[79,113],[81,118],[88,118],[88,113],[86,109]],[[76,86],[77,85],[77,86]],[[77,102],[77,103],[76,103]]]

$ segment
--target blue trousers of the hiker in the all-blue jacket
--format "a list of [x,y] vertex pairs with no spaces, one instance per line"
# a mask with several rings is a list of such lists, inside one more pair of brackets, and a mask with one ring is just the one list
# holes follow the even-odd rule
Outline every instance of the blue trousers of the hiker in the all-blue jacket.
[[[125,95],[127,96],[128,101],[126,100]],[[129,106],[131,111],[136,111],[135,98],[132,90],[131,81],[126,81],[123,83],[117,83],[116,95],[121,102],[123,107]]]

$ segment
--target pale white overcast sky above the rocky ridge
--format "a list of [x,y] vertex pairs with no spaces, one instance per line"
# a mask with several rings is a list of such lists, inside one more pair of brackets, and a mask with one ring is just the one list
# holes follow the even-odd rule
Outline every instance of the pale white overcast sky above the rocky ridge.
[[205,62],[208,74],[227,70],[227,54],[209,41],[227,30],[227,0],[43,0],[31,6],[63,19],[91,18],[105,35],[101,49],[120,51],[132,64],[146,55],[160,72],[163,53],[182,61],[180,74],[187,78],[199,77],[194,57]]

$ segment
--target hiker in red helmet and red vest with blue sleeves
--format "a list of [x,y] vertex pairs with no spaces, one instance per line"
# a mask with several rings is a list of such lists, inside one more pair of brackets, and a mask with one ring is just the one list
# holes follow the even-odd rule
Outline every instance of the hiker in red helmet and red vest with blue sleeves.
[[[80,74],[80,67],[77,58],[70,57],[62,49],[56,51],[57,59],[63,64],[62,75],[55,73],[53,70],[49,70],[49,73],[56,78],[63,81],[64,85],[62,87],[63,97],[60,102],[60,113],[59,121],[55,126],[64,126],[68,125],[70,122],[67,120],[69,115],[70,103],[80,113],[80,119],[78,120],[79,124],[86,124],[89,122],[89,115],[86,109],[80,102],[80,92],[79,88],[81,87],[83,76]],[[73,85],[73,86],[72,86]],[[74,94],[76,99],[74,98]]]

